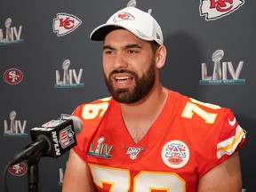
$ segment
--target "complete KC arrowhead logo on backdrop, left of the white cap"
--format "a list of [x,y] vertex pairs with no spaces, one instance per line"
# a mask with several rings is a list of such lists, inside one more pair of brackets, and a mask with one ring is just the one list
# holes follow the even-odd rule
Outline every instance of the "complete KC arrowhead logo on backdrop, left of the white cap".
[[79,20],[75,15],[60,12],[57,14],[57,18],[53,19],[52,28],[57,36],[66,36],[81,24],[82,20]]

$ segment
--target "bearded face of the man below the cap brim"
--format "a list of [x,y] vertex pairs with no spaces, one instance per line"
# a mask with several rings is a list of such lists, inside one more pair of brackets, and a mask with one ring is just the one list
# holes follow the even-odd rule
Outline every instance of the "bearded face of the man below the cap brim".
[[105,37],[103,69],[108,91],[121,103],[143,99],[155,84],[151,44],[124,29],[116,29]]

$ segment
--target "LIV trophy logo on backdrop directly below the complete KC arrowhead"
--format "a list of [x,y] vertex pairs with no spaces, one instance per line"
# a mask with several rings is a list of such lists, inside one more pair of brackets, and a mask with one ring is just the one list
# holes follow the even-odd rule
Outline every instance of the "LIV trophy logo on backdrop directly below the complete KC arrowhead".
[[[84,87],[81,82],[83,75],[83,68],[79,69],[78,75],[75,69],[68,69],[70,67],[70,60],[64,60],[62,63],[63,78],[60,80],[60,71],[56,70],[56,84],[55,88],[70,88],[70,87]],[[75,80],[75,82],[73,81]]]

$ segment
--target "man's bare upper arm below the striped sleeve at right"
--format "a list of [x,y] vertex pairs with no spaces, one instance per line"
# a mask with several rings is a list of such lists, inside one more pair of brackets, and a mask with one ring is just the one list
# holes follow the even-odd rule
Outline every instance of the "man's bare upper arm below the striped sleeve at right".
[[235,154],[207,172],[199,180],[197,192],[241,192],[241,190],[240,160],[236,151]]

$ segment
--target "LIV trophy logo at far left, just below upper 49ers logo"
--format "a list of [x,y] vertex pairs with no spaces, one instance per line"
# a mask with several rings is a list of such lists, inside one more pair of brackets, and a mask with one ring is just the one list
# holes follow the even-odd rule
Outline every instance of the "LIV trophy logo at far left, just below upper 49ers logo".
[[12,111],[9,120],[4,120],[4,136],[28,136],[25,132],[27,121],[15,120],[17,114]]

